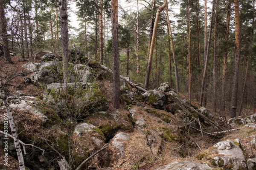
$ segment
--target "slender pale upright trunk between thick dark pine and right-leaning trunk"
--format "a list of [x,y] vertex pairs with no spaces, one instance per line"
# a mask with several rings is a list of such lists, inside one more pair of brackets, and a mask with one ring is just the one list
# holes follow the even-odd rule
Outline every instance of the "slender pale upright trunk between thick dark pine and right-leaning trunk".
[[136,24],[136,63],[137,69],[136,74],[140,76],[140,27],[139,27],[139,0],[137,0],[137,24]]

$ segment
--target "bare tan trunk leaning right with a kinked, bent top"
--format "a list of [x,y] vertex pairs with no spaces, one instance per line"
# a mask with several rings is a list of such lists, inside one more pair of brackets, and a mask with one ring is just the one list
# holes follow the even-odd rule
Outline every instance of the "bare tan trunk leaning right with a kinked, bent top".
[[152,35],[152,40],[151,40],[151,45],[150,45],[149,57],[148,57],[148,67],[147,67],[147,71],[146,71],[146,78],[145,78],[145,84],[144,84],[145,89],[148,89],[148,85],[149,85],[149,77],[150,77],[152,58],[153,58],[153,52],[154,52],[154,41],[155,41],[155,38],[157,35],[157,23],[159,20],[160,12],[163,10],[163,8],[166,6],[166,4],[167,4],[167,0],[164,0],[163,5],[157,9],[157,14],[156,14],[155,22],[154,22],[153,35]]

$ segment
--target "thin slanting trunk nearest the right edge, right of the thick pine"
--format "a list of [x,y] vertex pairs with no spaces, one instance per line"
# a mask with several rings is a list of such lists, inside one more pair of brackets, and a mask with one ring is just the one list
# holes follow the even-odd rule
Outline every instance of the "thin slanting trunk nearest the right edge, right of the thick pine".
[[244,76],[244,85],[243,85],[243,91],[242,91],[242,98],[241,98],[241,102],[240,102],[238,116],[241,116],[242,106],[243,106],[243,102],[244,102],[245,88],[246,88],[246,83],[247,83],[247,78],[248,78],[250,57],[251,57],[251,54],[252,54],[253,31],[254,31],[254,15],[255,15],[255,8],[254,7],[255,7],[255,0],[253,0],[253,17],[252,17],[253,22],[252,22],[252,28],[251,28],[251,34],[250,34],[249,54],[248,54],[248,58],[247,58],[246,71],[245,71],[245,76]]

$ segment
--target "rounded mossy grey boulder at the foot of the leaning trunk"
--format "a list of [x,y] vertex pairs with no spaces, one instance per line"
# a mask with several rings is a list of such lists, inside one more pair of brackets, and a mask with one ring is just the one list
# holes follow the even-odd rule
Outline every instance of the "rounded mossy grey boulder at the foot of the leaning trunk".
[[145,101],[148,102],[148,105],[151,105],[153,108],[165,109],[167,97],[162,91],[149,90],[143,96],[145,97]]

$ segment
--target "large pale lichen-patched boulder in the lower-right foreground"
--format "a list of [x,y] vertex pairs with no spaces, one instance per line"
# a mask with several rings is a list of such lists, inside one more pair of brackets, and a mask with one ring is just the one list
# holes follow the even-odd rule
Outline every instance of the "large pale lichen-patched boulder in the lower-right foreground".
[[221,169],[247,170],[246,159],[239,139],[218,142],[198,156],[201,160],[210,160],[211,164]]

